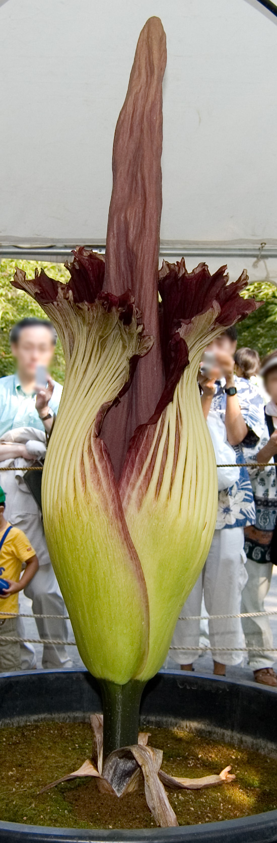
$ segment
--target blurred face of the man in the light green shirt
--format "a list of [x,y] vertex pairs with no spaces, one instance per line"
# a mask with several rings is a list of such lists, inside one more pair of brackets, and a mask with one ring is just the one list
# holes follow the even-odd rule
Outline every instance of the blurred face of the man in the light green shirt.
[[55,352],[51,331],[44,325],[23,328],[19,334],[19,341],[13,342],[11,348],[19,375],[30,380],[35,379],[37,366],[49,368]]

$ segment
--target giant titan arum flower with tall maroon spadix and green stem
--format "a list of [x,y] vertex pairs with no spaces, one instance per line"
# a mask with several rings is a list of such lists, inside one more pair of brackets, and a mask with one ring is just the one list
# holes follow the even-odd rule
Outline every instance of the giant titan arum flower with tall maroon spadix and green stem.
[[[73,252],[67,285],[30,293],[61,338],[66,378],[43,473],[45,535],[77,641],[104,699],[104,753],[137,743],[143,685],[162,666],[216,524],[216,462],[197,372],[212,336],[255,308],[184,259],[162,265],[161,21],[141,32],[115,130],[105,260]],[[158,289],[162,304],[158,306]]]

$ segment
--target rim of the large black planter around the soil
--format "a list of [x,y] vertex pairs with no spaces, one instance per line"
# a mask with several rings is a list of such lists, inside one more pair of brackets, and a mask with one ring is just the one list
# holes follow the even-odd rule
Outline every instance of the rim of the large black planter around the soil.
[[[0,674],[0,689],[3,683],[3,680],[7,679],[21,679],[24,676],[30,677],[34,680],[38,679],[40,682],[40,678],[44,677],[46,674],[55,674],[57,677],[60,677],[65,674],[80,674],[83,677],[88,676],[88,671],[83,668],[66,668],[64,670],[31,670],[31,671],[19,671],[17,673],[6,673]],[[254,682],[239,680],[236,681],[234,679],[226,679],[226,677],[220,676],[207,676],[206,674],[200,673],[189,673],[186,672],[184,675],[184,671],[181,670],[162,670],[160,671],[161,678],[164,678],[165,681],[168,677],[182,679],[182,685],[184,684],[185,680],[190,679],[192,684],[194,682],[196,685],[199,685],[201,680],[208,683],[211,688],[216,689],[216,685],[226,685],[227,687],[236,686],[237,689],[251,689],[254,688],[258,695],[262,694],[266,695],[277,695],[277,689],[264,686],[264,685],[257,685]],[[277,705],[277,701],[276,701]],[[49,715],[51,717],[51,715]],[[53,712],[53,717],[55,717],[55,712]],[[26,717],[27,719],[27,717]],[[0,727],[1,728],[1,727]],[[3,726],[3,728],[5,728]],[[237,833],[240,830],[241,836],[238,838]],[[63,843],[71,843],[74,840],[74,843],[77,841],[95,841],[95,843],[111,843],[111,841],[117,841],[117,843],[137,843],[137,841],[141,841],[141,843],[158,843],[159,840],[162,840],[163,843],[178,843],[178,841],[184,840],[185,843],[221,843],[221,841],[226,840],[226,843],[236,843],[237,840],[243,840],[243,843],[259,843],[260,840],[263,840],[264,843],[275,843],[277,841],[277,809],[273,811],[268,811],[264,813],[257,813],[251,814],[249,817],[242,817],[237,819],[228,819],[228,820],[219,820],[216,823],[203,823],[197,825],[181,825],[178,828],[169,828],[169,829],[161,829],[161,828],[153,828],[153,829],[131,829],[131,830],[121,830],[121,829],[74,829],[74,828],[55,828],[51,826],[44,826],[44,825],[27,825],[21,823],[5,823],[0,820],[0,843],[1,841],[7,841],[7,843],[19,843],[20,840],[32,841],[32,843],[58,843],[59,840],[62,840]]]

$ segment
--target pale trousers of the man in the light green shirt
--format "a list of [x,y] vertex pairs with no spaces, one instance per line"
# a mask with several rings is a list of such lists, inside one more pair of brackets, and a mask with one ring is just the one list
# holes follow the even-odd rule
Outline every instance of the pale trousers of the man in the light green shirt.
[[[49,562],[41,565],[35,573],[24,594],[33,601],[35,615],[66,615],[59,584]],[[67,621],[61,618],[35,618],[40,638],[59,639],[67,642]],[[25,638],[24,622],[18,618],[18,635]],[[20,644],[21,669],[36,667],[35,650],[31,644]],[[68,668],[71,660],[64,644],[44,644],[42,655],[43,668]]]

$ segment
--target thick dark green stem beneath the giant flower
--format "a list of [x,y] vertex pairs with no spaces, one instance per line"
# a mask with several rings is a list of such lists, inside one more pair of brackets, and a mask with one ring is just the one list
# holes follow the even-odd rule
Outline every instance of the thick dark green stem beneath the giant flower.
[[104,758],[121,746],[137,744],[141,694],[146,685],[131,679],[125,685],[115,685],[99,679],[104,714]]

